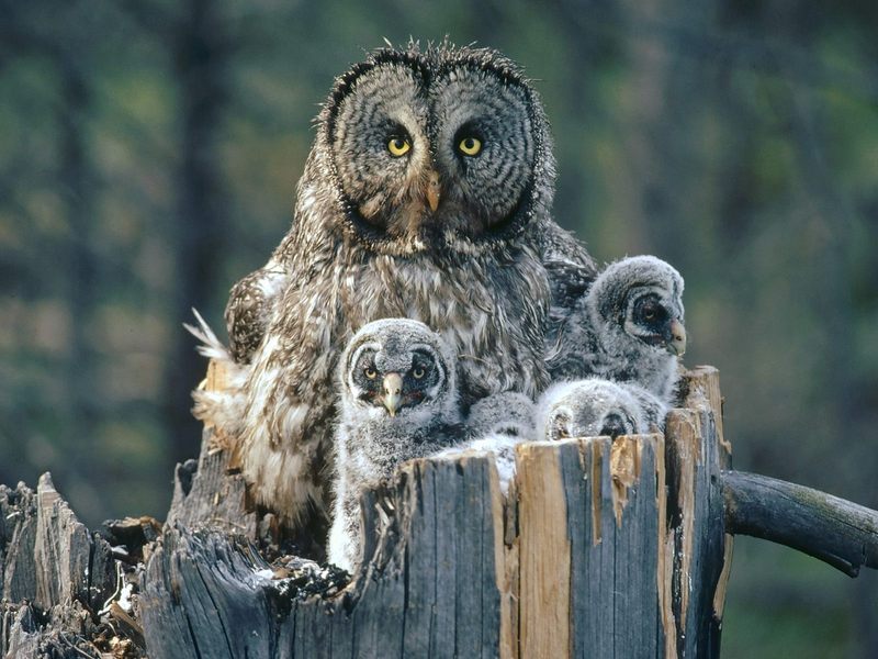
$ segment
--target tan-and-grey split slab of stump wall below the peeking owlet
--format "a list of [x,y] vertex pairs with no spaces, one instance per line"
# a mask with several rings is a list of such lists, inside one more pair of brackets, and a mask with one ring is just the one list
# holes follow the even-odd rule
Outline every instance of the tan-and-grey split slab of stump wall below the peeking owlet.
[[662,656],[664,443],[518,449],[520,656]]

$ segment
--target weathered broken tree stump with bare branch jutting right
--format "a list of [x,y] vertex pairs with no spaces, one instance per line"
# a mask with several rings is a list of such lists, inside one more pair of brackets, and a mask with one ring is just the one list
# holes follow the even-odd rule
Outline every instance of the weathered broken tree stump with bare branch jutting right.
[[47,477],[0,487],[0,654],[717,657],[733,534],[878,567],[878,513],[732,471],[716,370],[685,384],[664,435],[519,446],[506,496],[488,456],[406,463],[361,502],[349,583],[279,556],[211,428],[160,533],[89,533]]

